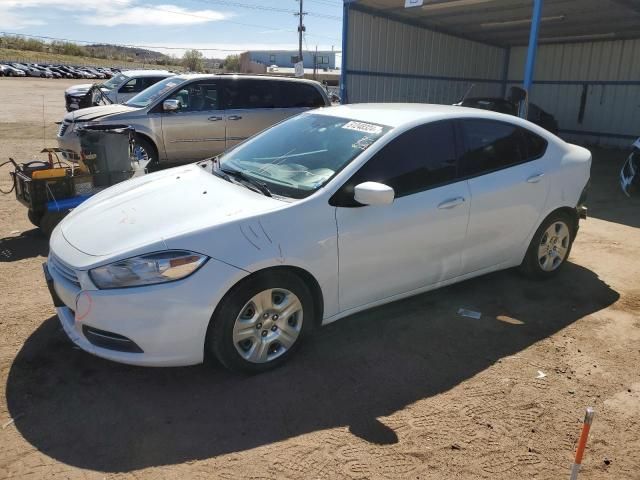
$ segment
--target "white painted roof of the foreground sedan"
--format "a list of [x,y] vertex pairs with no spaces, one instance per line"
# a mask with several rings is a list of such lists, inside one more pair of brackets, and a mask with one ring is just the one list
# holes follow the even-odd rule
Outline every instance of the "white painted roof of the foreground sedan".
[[454,118],[484,118],[521,125],[536,132],[540,130],[532,123],[519,117],[493,112],[491,110],[481,110],[457,105],[430,103],[354,103],[322,108],[314,110],[313,113],[349,118],[361,122],[377,123],[392,128]]

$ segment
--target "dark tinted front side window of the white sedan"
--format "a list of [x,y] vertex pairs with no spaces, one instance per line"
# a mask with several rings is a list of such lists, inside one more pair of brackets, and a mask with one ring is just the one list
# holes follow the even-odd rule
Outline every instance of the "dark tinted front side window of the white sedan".
[[340,205],[355,205],[354,187],[379,182],[392,187],[396,198],[456,179],[456,138],[453,122],[416,127],[385,145],[349,179],[339,193]]

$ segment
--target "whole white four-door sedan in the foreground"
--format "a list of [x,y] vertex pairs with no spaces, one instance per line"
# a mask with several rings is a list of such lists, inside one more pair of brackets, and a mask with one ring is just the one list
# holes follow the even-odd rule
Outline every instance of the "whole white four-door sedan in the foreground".
[[263,371],[363,309],[510,267],[553,276],[590,165],[499,113],[325,108],[94,196],[53,232],[45,275],[90,353]]

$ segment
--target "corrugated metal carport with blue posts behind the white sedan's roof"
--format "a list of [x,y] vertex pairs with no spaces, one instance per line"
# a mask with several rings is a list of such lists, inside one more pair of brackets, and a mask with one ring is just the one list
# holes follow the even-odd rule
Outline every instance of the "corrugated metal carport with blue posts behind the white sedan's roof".
[[524,85],[565,138],[640,135],[640,0],[406,3],[418,6],[345,0],[344,101],[455,103],[471,84],[472,96]]

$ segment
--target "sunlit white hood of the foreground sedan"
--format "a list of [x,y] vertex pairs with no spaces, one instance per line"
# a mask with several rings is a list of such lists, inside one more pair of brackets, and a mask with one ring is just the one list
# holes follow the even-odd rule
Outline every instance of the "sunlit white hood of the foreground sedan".
[[119,256],[286,205],[192,164],[108,188],[73,210],[59,228],[85,254]]

